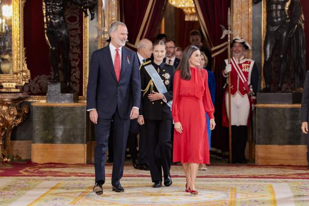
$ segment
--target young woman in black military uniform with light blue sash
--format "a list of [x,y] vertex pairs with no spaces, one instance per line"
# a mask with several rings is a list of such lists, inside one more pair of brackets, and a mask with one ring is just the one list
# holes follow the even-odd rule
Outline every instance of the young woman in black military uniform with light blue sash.
[[175,68],[163,62],[165,45],[154,43],[154,61],[141,65],[141,106],[138,123],[147,130],[147,152],[153,187],[170,186],[173,80]]

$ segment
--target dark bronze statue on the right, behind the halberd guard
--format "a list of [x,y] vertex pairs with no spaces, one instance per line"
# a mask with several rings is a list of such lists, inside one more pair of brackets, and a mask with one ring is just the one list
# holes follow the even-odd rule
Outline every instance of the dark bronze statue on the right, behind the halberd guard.
[[[254,3],[260,1],[253,0]],[[263,66],[266,87],[263,89],[263,92],[270,92],[271,89],[271,60],[276,44],[279,44],[280,58],[279,85],[277,91],[282,91],[286,71],[286,54],[291,39],[291,74],[294,73],[295,76],[294,91],[300,91],[306,76],[304,15],[300,1],[266,0],[266,12],[267,28],[264,41]]]

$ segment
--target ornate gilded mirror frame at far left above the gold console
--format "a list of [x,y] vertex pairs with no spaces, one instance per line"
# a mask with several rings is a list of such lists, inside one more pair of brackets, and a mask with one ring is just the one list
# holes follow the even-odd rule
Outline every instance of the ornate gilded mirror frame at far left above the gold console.
[[26,0],[12,0],[12,74],[0,75],[0,92],[19,92],[16,86],[30,79],[24,48],[23,8]]

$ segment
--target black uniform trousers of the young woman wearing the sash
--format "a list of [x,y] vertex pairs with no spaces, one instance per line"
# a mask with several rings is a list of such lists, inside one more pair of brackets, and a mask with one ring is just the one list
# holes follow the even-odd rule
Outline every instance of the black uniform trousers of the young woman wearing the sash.
[[172,119],[145,120],[147,130],[148,160],[152,181],[162,180],[171,169],[171,129]]

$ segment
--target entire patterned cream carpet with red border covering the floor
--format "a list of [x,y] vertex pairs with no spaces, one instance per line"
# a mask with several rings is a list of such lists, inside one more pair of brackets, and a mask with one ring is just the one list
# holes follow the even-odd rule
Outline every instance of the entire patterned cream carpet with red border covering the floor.
[[111,191],[106,166],[103,195],[92,192],[93,164],[0,165],[0,206],[194,205],[309,206],[309,170],[293,166],[214,165],[199,171],[197,196],[184,192],[182,167],[172,166],[171,187],[152,188],[148,171],[125,166],[124,193]]

